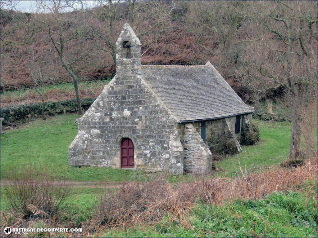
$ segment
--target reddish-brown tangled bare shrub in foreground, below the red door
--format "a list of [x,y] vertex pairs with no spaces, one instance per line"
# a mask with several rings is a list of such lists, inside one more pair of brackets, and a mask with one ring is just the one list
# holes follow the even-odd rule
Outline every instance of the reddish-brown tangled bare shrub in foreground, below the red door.
[[143,212],[152,214],[150,220],[158,220],[162,208],[154,204],[160,204],[171,193],[165,176],[154,175],[145,182],[123,183],[115,193],[106,189],[96,204],[95,220],[101,225],[116,225]]

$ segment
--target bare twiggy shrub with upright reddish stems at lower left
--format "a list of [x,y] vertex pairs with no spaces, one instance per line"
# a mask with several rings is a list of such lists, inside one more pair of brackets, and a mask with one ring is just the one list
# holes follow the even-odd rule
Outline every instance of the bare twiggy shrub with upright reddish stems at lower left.
[[[65,179],[54,177],[53,181],[47,169],[39,173],[31,167],[23,174],[10,173],[8,177],[4,191],[14,215],[33,218],[44,213],[53,216],[66,211],[71,188]],[[33,215],[29,205],[44,213]]]

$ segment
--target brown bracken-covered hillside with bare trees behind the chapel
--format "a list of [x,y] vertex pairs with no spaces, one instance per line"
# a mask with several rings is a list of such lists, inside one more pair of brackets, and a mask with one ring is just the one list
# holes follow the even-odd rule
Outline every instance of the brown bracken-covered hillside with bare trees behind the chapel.
[[[90,9],[57,9],[62,34],[68,39],[64,58],[80,81],[114,75],[114,43],[127,22],[142,42],[142,64],[211,61],[239,96],[253,104],[264,98],[279,99],[288,88],[281,81],[286,67],[298,65],[296,59],[285,57],[290,53],[280,56],[288,48],[284,19],[293,17],[292,56],[317,56],[314,1],[285,5],[266,1],[114,1],[110,7],[107,1],[100,2]],[[47,7],[44,4],[42,9]],[[33,87],[31,71],[39,61],[45,69],[42,85],[72,82],[52,42],[58,39],[56,15],[41,13],[41,9],[38,13],[2,9],[0,20],[2,92]],[[308,73],[315,73],[316,61],[299,60],[307,65]],[[298,68],[293,70],[299,74]]]

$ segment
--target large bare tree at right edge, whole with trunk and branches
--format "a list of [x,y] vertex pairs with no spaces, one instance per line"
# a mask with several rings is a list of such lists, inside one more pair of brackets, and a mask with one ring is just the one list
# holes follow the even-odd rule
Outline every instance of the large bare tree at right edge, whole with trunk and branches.
[[263,36],[246,52],[245,63],[252,75],[262,77],[263,90],[285,89],[292,118],[289,158],[294,159],[302,155],[301,124],[312,116],[310,108],[317,100],[317,3],[279,1],[269,11],[259,12]]

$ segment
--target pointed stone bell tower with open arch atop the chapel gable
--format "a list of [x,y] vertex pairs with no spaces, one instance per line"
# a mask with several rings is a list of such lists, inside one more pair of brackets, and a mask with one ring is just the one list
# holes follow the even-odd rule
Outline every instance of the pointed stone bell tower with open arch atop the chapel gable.
[[116,74],[141,74],[141,43],[128,23],[116,41]]

